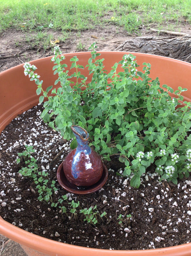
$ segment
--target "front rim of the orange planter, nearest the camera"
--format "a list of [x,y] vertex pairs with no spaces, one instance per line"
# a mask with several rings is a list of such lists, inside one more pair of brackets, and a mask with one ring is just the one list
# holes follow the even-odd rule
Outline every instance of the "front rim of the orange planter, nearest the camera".
[[[173,247],[166,247],[166,248],[159,248],[159,249],[151,249],[151,250],[134,250],[134,251],[125,251],[125,250],[104,250],[104,249],[95,249],[95,248],[88,248],[88,247],[81,247],[66,243],[60,243],[57,241],[50,240],[48,238],[39,237],[33,233],[25,231],[21,228],[18,228],[7,221],[3,220],[0,216],[0,230],[1,234],[9,237],[13,241],[27,246],[29,248],[33,248],[42,253],[51,253],[50,255],[58,255],[61,256],[63,254],[63,250],[67,251],[67,256],[78,255],[84,256],[85,253],[90,253],[94,256],[108,256],[108,255],[116,255],[116,256],[135,256],[135,255],[142,255],[147,256],[148,253],[152,253],[152,255],[168,255],[168,256],[190,256],[191,252],[191,243],[182,244]],[[19,237],[18,237],[18,234]],[[16,239],[15,239],[16,238]],[[42,244],[46,244],[46,248],[42,250]],[[58,251],[55,252],[55,248]],[[184,252],[187,251],[185,254]],[[149,253],[149,254],[150,254]]]

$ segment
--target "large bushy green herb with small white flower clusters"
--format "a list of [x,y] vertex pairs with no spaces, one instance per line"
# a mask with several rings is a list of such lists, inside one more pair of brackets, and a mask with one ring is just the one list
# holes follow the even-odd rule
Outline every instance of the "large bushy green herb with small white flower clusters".
[[[43,89],[43,81],[34,73],[36,67],[24,64],[24,73],[37,84],[39,102],[44,100],[42,118],[64,139],[73,138],[71,125],[85,128],[90,136],[90,146],[103,159],[119,155],[125,163],[123,176],[130,176],[130,185],[138,188],[140,178],[151,164],[162,179],[177,184],[177,178],[188,177],[191,169],[191,110],[190,102],[183,101],[181,93],[162,85],[158,78],[149,77],[151,64],[143,63],[143,70],[132,54],[125,54],[110,71],[104,68],[104,59],[89,50],[86,68],[91,81],[86,83],[84,67],[76,56],[70,59],[71,67],[59,47],[54,48],[55,85]],[[118,67],[121,71],[118,72]],[[69,75],[68,70],[72,70]],[[171,97],[174,93],[175,96]],[[183,101],[184,105],[178,106]],[[71,147],[75,147],[75,140]]]

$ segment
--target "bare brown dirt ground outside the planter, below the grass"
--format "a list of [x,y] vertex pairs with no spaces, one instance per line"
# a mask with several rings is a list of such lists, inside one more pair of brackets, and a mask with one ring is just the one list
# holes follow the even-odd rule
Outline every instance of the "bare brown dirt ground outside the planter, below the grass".
[[[191,26],[182,24],[174,31],[191,34]],[[59,31],[47,30],[46,33],[51,34],[53,40],[63,38]],[[138,34],[129,35],[123,28],[111,24],[94,30],[71,31],[67,39],[60,40],[57,45],[60,46],[63,54],[87,51],[95,41],[98,50],[113,51],[127,39],[148,35],[158,36],[158,33],[140,28]],[[44,50],[40,42],[36,43],[33,37],[35,37],[35,32],[26,33],[14,29],[0,33],[0,72],[30,60],[53,55],[53,45],[49,44]],[[0,235],[0,256],[26,256],[26,254],[19,244]]]

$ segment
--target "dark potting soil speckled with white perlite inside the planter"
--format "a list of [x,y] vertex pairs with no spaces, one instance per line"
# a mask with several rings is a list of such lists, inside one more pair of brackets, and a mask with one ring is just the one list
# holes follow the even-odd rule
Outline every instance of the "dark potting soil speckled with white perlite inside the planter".
[[[60,187],[56,179],[58,165],[64,160],[69,143],[43,123],[38,105],[16,117],[0,135],[0,215],[9,223],[34,234],[78,246],[115,250],[161,248],[191,242],[191,179],[178,185],[159,182],[152,168],[143,176],[139,189],[130,187],[129,179],[116,176],[123,165],[114,158],[105,163],[109,178],[99,191],[78,196]],[[67,194],[66,214],[59,208],[38,201],[38,189],[30,178],[18,171],[24,162],[16,164],[24,145],[33,145],[39,171],[46,170],[56,181],[58,191],[52,201]],[[80,203],[80,208],[97,206],[106,217],[95,226],[85,222],[83,214],[72,214],[68,203]],[[122,223],[119,224],[119,215]],[[126,217],[126,215],[131,217]]]

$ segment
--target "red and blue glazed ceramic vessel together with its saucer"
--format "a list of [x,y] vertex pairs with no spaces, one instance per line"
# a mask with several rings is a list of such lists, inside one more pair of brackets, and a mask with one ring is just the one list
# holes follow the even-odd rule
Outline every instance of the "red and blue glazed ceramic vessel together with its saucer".
[[100,155],[88,145],[89,134],[80,126],[72,125],[77,148],[68,153],[58,167],[59,184],[75,194],[90,194],[99,190],[108,179],[108,170]]

